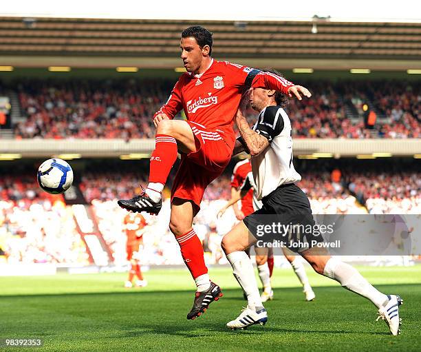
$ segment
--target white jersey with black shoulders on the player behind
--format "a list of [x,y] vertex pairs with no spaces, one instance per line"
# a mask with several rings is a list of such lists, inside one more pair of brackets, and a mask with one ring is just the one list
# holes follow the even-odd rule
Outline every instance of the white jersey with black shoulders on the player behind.
[[268,138],[270,143],[261,154],[251,158],[255,193],[261,200],[280,185],[298,182],[301,176],[292,163],[291,123],[282,107],[265,107],[252,129]]

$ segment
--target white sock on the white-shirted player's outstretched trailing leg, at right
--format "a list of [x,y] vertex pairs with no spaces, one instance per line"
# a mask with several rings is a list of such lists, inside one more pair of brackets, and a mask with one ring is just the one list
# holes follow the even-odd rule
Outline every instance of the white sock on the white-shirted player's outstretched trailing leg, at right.
[[338,281],[343,287],[368,298],[376,307],[380,308],[389,299],[373,287],[361,274],[351,265],[341,262],[336,258],[330,258],[325,265],[324,276]]

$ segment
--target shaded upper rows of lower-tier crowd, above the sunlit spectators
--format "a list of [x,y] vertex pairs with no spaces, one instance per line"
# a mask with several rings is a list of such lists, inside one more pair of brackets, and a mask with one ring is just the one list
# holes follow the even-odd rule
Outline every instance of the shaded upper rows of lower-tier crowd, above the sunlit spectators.
[[[338,170],[335,170],[338,171]],[[404,200],[421,198],[421,173],[414,170],[407,172],[356,172],[345,169],[343,175],[334,176],[332,172],[301,172],[302,180],[298,183],[305,194],[312,200],[343,198],[350,194],[362,205],[369,199]],[[146,185],[147,172],[140,168],[138,172],[103,171],[84,172],[79,189],[87,203],[94,200],[106,201],[131,196],[142,191],[140,185]],[[336,178],[338,177],[338,178]],[[169,183],[171,187],[171,182]],[[166,189],[169,195],[170,189]],[[61,198],[47,194],[39,188],[30,174],[2,176],[0,179],[0,198],[3,201],[19,203],[19,207],[29,209],[33,203],[54,202]],[[209,185],[204,200],[228,200],[230,198],[230,175],[222,174]],[[369,209],[370,210],[370,209]]]

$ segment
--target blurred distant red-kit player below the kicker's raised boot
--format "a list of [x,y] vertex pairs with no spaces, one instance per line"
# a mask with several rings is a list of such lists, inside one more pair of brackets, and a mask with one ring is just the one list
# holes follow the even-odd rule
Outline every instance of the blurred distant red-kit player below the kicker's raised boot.
[[140,264],[135,254],[138,254],[140,246],[143,244],[144,227],[147,225],[146,220],[140,214],[127,214],[124,220],[125,230],[127,235],[127,260],[129,260],[131,268],[129,270],[129,278],[125,282],[125,287],[133,287],[132,281],[135,276],[137,287],[145,287],[147,280],[144,280],[142,271],[140,271]]

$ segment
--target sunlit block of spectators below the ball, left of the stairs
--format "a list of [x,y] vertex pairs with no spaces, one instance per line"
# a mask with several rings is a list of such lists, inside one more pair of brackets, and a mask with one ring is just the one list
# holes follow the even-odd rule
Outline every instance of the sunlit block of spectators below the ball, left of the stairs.
[[0,200],[0,245],[11,264],[89,264],[72,210],[62,201]]

